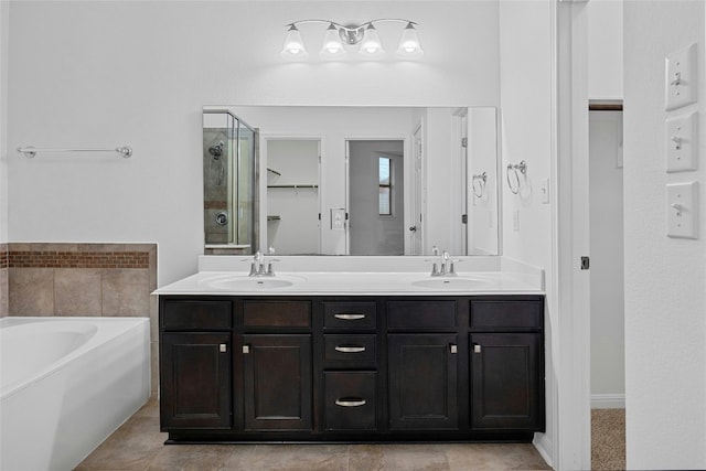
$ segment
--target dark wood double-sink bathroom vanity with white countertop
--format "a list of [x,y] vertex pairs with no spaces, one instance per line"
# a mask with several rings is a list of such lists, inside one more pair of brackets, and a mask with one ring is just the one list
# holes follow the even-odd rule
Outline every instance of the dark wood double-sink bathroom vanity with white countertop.
[[544,431],[541,291],[488,277],[347,276],[200,274],[160,289],[168,442],[530,441]]

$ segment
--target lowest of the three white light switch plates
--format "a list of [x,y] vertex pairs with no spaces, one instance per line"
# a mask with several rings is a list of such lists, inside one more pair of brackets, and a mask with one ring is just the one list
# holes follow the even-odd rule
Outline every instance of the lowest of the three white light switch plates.
[[666,235],[668,237],[697,238],[698,182],[666,185]]

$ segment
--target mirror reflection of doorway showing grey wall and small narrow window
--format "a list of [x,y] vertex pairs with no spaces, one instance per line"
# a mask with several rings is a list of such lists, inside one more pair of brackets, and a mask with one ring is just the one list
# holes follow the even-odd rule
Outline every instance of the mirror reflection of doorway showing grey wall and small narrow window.
[[349,254],[404,255],[404,141],[349,140]]

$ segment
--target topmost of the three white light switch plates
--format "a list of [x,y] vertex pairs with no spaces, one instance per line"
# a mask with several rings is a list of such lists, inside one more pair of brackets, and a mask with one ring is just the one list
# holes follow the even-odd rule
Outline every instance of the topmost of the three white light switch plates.
[[696,43],[667,55],[664,68],[666,110],[696,103]]

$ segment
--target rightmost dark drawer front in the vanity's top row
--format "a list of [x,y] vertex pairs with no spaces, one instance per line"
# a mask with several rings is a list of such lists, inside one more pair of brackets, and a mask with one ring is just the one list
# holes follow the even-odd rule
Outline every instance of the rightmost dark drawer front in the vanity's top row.
[[471,301],[471,329],[541,329],[543,306],[541,300]]

